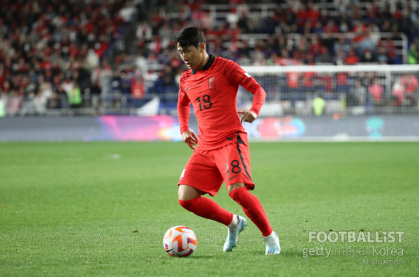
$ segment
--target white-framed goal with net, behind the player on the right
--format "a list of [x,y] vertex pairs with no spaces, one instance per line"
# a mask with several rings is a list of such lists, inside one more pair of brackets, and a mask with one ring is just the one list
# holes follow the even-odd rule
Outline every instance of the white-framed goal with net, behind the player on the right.
[[[419,140],[419,66],[245,66],[267,92],[249,137]],[[241,87],[237,103],[249,108]]]

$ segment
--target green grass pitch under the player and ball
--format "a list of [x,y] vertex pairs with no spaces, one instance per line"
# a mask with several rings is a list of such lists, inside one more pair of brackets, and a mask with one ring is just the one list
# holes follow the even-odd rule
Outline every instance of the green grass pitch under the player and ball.
[[[181,142],[1,143],[0,276],[419,276],[418,143],[250,147],[253,193],[280,255],[265,256],[250,220],[223,253],[226,227],[179,206],[191,154]],[[214,200],[244,215],[225,186]],[[174,225],[196,233],[190,257],[163,249]],[[308,239],[368,231],[404,234],[394,243]]]

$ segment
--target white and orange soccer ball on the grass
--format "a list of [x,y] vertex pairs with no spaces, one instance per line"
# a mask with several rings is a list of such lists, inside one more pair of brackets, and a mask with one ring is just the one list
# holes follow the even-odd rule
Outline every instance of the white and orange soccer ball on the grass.
[[163,246],[172,257],[187,257],[196,249],[196,235],[188,227],[171,227],[163,237]]

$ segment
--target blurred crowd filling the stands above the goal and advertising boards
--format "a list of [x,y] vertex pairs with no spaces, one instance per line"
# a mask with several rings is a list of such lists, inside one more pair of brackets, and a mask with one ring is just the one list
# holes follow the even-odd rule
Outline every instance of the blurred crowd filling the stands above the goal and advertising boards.
[[173,105],[185,67],[172,37],[191,25],[205,31],[210,54],[242,66],[418,63],[416,1],[2,3],[0,116],[1,105],[12,116],[63,107],[100,112],[140,106],[147,95]]

